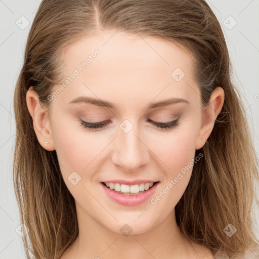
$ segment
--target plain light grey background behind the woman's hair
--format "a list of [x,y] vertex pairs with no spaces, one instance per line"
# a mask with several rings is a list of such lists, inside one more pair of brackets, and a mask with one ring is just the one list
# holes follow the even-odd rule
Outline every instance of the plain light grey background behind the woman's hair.
[[[1,259],[25,258],[22,238],[18,234],[21,223],[12,178],[15,143],[13,94],[24,58],[25,42],[39,3],[39,0],[0,0]],[[210,0],[207,3],[218,17],[226,36],[233,64],[232,78],[243,98],[258,158],[259,0]],[[22,16],[25,18],[21,18]],[[23,28],[26,20],[29,21],[29,25]],[[258,204],[254,203],[252,209],[257,219],[258,207]],[[259,237],[257,225],[258,221],[254,222],[254,229]]]

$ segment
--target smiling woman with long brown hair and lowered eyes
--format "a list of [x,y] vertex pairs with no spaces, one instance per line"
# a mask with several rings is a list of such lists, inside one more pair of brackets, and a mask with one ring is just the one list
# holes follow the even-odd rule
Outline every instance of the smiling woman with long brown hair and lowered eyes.
[[257,160],[205,1],[42,1],[15,90],[27,256],[257,258]]

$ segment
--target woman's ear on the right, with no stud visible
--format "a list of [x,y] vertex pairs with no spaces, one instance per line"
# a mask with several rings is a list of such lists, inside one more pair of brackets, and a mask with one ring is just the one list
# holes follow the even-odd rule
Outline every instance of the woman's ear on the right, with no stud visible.
[[215,119],[217,119],[219,113],[222,110],[224,99],[225,94],[221,87],[215,88],[215,90],[211,93],[209,102],[202,111],[202,125],[200,127],[196,141],[196,150],[202,148],[205,145],[209,135],[213,130]]

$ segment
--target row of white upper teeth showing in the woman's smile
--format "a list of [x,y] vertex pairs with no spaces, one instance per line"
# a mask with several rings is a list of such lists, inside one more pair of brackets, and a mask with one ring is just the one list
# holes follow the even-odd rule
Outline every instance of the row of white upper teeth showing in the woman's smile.
[[143,184],[135,184],[135,185],[126,185],[126,184],[118,184],[118,183],[105,183],[106,187],[114,190],[116,192],[121,193],[139,193],[143,191],[147,191],[151,188],[154,183],[143,183]]

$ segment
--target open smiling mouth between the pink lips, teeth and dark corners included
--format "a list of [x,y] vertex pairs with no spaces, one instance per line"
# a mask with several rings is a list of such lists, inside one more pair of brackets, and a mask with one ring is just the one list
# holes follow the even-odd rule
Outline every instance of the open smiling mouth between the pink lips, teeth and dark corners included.
[[155,188],[158,183],[159,181],[140,183],[135,185],[126,185],[126,184],[119,184],[119,183],[101,182],[101,184],[105,186],[105,188],[112,190],[115,193],[119,193],[122,195],[135,195],[135,196]]

